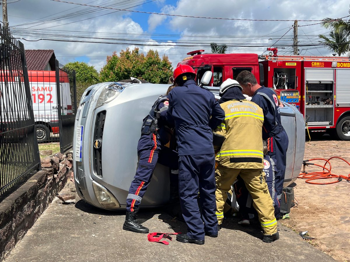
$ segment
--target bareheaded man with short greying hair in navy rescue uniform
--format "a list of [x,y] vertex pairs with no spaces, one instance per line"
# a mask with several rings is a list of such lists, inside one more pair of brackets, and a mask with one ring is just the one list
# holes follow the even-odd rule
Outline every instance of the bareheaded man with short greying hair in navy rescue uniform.
[[243,87],[243,92],[252,96],[251,101],[258,104],[264,111],[262,139],[267,141],[267,155],[276,166],[275,190],[280,200],[286,172],[288,136],[281,123],[277,95],[271,88],[260,86],[249,71],[240,72],[236,80]]

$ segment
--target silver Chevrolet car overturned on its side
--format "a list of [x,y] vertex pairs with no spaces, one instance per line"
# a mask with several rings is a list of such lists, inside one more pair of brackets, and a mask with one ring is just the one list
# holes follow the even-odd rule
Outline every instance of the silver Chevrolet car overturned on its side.
[[[132,81],[99,83],[85,90],[76,114],[73,141],[74,179],[80,198],[98,208],[125,209],[138,164],[142,119],[168,87]],[[209,90],[219,98],[218,89]],[[289,138],[286,187],[300,173],[305,130],[299,110],[285,104],[280,111]],[[141,207],[168,202],[168,174],[167,167],[157,164]]]

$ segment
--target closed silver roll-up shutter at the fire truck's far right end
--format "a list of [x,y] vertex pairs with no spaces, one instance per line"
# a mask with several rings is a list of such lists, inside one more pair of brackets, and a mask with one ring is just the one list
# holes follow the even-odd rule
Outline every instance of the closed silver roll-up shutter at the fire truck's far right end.
[[339,105],[350,105],[350,70],[337,69],[336,103]]

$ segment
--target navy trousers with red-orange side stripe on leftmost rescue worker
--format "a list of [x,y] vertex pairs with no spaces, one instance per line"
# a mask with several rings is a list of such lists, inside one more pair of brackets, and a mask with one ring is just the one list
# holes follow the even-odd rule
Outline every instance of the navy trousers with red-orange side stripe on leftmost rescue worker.
[[[169,148],[161,146],[159,138],[153,133],[141,135],[137,151],[139,165],[126,198],[126,211],[128,212],[139,208],[157,162],[174,170],[179,167],[177,154]],[[177,182],[176,178],[170,176],[170,183]]]

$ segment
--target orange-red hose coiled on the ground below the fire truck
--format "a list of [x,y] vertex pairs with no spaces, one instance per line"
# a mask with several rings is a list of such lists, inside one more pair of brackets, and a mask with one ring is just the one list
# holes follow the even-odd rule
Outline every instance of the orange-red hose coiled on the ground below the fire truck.
[[[310,172],[310,173],[304,172],[304,173],[300,173],[298,178],[305,179],[306,183],[316,184],[316,185],[334,184],[334,183],[338,183],[338,182],[340,182],[342,180],[346,180],[346,181],[350,182],[350,174],[348,174],[348,176],[344,176],[344,175],[336,175],[336,174],[332,174],[331,173],[332,166],[331,166],[329,160],[331,160],[333,158],[338,158],[340,160],[343,160],[344,162],[346,162],[350,166],[350,163],[348,161],[346,161],[345,159],[340,158],[340,157],[331,157],[328,160],[323,159],[323,158],[313,158],[313,159],[310,159],[310,160],[307,160],[307,161],[314,161],[314,160],[325,161],[323,166],[322,165],[318,165],[318,164],[312,164],[314,166],[322,167],[322,172],[321,171],[319,171],[319,172]],[[329,165],[328,168],[326,167],[327,165]],[[311,181],[317,180],[317,179],[329,179],[329,178],[334,178],[334,179],[337,179],[337,180],[336,181],[331,181],[331,182],[324,182],[324,183],[311,182]]]

